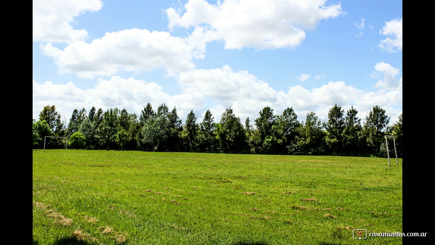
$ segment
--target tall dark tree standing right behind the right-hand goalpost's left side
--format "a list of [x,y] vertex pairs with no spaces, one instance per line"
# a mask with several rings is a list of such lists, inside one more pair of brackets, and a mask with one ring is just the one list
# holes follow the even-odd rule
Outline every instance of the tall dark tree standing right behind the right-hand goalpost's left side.
[[369,147],[376,156],[381,156],[381,147],[385,142],[385,133],[390,117],[379,106],[374,106],[366,116],[364,131]]

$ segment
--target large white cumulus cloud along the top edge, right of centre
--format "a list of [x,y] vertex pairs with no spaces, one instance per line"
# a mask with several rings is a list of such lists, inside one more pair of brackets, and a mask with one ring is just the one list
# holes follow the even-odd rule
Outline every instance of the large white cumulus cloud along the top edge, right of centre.
[[305,38],[305,29],[345,13],[340,4],[325,3],[326,0],[224,0],[211,5],[205,0],[189,0],[184,8],[169,8],[166,14],[170,29],[207,27],[211,36],[225,41],[228,49],[293,48]]

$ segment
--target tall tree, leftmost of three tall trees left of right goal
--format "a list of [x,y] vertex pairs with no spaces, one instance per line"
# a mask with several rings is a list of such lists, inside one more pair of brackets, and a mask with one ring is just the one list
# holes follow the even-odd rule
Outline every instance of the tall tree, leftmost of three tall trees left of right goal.
[[343,150],[343,131],[345,128],[344,110],[335,104],[328,112],[328,121],[323,124],[326,130],[325,142],[329,153],[340,154]]

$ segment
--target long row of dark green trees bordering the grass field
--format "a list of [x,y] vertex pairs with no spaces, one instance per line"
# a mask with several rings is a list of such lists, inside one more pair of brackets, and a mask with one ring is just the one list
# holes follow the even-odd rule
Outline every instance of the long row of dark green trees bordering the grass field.
[[[345,112],[334,105],[327,121],[322,122],[315,112],[299,121],[291,107],[280,115],[264,107],[253,122],[248,117],[242,124],[232,108],[218,122],[210,110],[197,122],[192,110],[183,124],[175,107],[169,110],[161,104],[154,111],[148,103],[140,115],[118,108],[92,107],[89,113],[85,108],[74,109],[66,127],[56,107],[48,105],[39,120],[33,120],[33,148],[42,149],[45,136],[63,136],[68,137],[70,148],[88,150],[385,157],[385,135],[390,135],[402,157],[402,115],[389,127],[390,116],[379,106],[370,110],[364,123],[357,113],[353,107]],[[45,148],[65,148],[64,140],[49,138]],[[394,154],[390,141],[390,154]]]

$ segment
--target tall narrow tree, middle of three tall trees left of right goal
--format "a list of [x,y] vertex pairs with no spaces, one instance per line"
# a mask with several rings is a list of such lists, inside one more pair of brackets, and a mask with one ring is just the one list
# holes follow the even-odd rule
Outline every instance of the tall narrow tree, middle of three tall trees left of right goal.
[[344,119],[343,141],[345,152],[357,155],[365,152],[361,143],[362,130],[361,119],[356,116],[358,111],[353,106],[347,110]]

